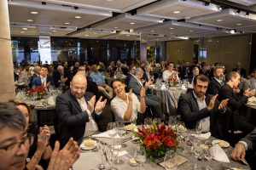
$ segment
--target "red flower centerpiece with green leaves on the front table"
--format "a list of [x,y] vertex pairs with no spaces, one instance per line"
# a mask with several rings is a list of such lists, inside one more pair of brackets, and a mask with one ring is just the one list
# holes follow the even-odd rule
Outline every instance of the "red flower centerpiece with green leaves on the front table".
[[151,160],[156,157],[165,156],[167,150],[177,150],[178,134],[172,130],[172,127],[166,127],[164,122],[160,127],[153,122],[150,127],[142,126],[138,131],[133,131],[140,143],[145,147],[147,156]]

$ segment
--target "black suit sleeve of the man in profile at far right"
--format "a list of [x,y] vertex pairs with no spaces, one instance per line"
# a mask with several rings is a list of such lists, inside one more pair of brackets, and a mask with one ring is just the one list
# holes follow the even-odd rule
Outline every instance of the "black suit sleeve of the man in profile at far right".
[[229,99],[228,105],[233,111],[240,109],[241,106],[247,103],[247,96],[234,94],[232,88],[223,87],[220,90],[220,94],[222,96],[221,99]]

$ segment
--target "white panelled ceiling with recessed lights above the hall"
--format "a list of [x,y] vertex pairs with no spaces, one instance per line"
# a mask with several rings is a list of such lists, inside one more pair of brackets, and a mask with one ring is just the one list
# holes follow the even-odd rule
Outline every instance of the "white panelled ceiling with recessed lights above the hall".
[[[231,36],[256,32],[255,0],[230,0],[219,4],[198,0],[11,0],[12,36],[50,35],[141,41]],[[31,12],[38,14],[31,14]],[[79,16],[79,18],[78,18]],[[30,21],[29,21],[30,20]],[[218,21],[217,21],[218,20]],[[23,28],[23,29],[22,29]],[[27,28],[27,30],[24,30]]]

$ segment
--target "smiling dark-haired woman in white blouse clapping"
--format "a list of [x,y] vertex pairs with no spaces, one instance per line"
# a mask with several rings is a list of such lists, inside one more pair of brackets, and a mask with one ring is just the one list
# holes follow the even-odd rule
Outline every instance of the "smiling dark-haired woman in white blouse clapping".
[[111,101],[111,110],[117,122],[134,122],[137,120],[137,112],[145,112],[145,88],[142,88],[140,100],[130,90],[125,93],[125,82],[114,80],[112,82],[113,91],[116,96]]

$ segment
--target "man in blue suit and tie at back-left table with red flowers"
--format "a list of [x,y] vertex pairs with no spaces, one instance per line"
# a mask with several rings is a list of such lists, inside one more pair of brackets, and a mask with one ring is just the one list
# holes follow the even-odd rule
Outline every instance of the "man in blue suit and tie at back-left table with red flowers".
[[34,77],[32,80],[32,88],[43,86],[45,88],[49,88],[50,86],[54,85],[53,79],[47,77],[48,75],[48,68],[42,66],[40,71],[40,77]]

